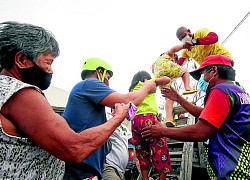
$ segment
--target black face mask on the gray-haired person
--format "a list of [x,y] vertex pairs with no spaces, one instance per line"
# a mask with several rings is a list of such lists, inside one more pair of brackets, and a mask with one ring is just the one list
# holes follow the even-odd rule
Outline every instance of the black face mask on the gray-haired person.
[[20,69],[19,72],[25,83],[39,87],[41,90],[45,90],[49,87],[52,74],[47,73],[41,69],[37,64],[26,69]]

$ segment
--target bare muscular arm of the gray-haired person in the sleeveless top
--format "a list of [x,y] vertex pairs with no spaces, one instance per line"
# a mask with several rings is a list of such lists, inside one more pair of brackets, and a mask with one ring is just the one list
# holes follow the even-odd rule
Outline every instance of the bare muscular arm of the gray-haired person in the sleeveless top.
[[42,94],[25,88],[4,104],[1,114],[5,118],[0,117],[0,121],[5,124],[3,128],[8,126],[4,129],[6,133],[28,137],[37,146],[64,161],[81,162],[105,143],[125,119],[128,109],[129,104],[115,104],[115,115],[111,120],[75,133],[65,119],[53,111]]

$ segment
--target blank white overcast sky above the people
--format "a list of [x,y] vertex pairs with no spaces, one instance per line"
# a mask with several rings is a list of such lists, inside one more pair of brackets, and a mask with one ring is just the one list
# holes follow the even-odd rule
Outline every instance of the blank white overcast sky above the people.
[[[66,91],[81,80],[84,60],[99,57],[113,68],[110,86],[126,93],[137,71],[150,72],[162,52],[180,43],[177,28],[206,27],[222,42],[249,11],[249,0],[0,0],[1,22],[32,23],[55,35],[61,54],[53,64],[52,85]],[[225,47],[248,92],[249,44],[247,17]]]

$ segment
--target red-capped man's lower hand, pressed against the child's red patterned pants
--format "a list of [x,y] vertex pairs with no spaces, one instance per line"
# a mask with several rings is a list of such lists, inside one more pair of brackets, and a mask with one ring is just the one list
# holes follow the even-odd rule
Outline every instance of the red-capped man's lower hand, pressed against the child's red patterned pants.
[[143,128],[141,135],[146,141],[149,141],[150,138],[161,138],[165,128],[161,122],[156,121],[154,125]]

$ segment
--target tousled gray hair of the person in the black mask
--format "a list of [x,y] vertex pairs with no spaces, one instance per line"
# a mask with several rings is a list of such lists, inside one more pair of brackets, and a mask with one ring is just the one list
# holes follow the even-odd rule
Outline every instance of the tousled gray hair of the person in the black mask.
[[42,27],[19,22],[0,23],[0,69],[10,69],[17,52],[22,51],[33,62],[42,54],[59,56],[54,35]]

